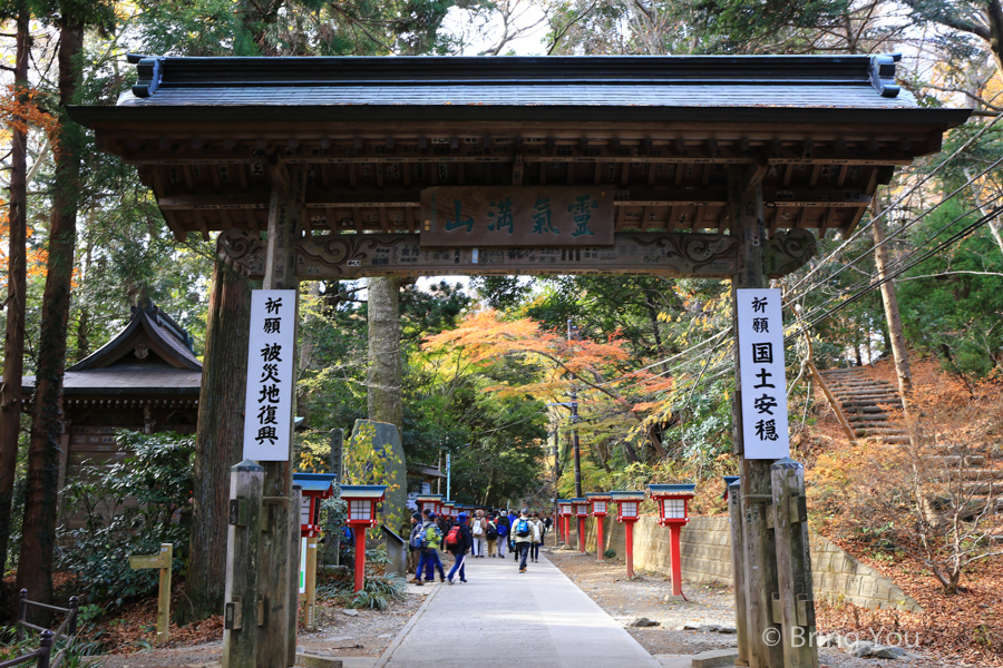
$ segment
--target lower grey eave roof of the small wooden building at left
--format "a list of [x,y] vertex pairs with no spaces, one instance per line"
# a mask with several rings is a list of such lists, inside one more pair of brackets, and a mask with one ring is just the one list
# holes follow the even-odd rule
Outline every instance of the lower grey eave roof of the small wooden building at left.
[[[116,364],[104,369],[67,371],[66,394],[198,394],[202,371],[160,364]],[[35,376],[25,376],[23,392],[35,391]]]

